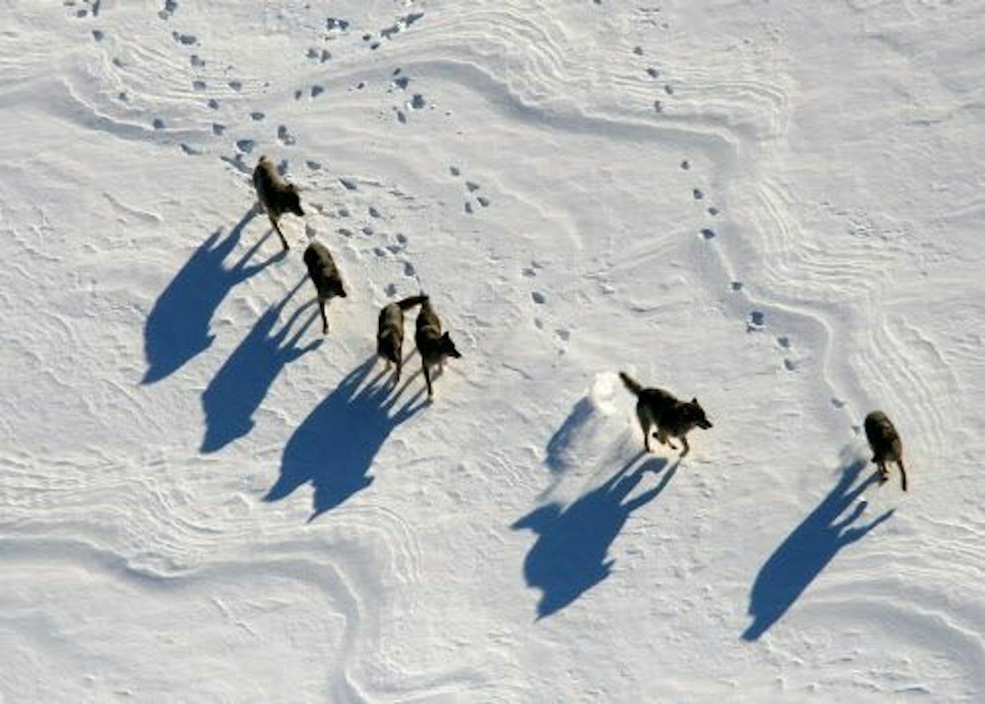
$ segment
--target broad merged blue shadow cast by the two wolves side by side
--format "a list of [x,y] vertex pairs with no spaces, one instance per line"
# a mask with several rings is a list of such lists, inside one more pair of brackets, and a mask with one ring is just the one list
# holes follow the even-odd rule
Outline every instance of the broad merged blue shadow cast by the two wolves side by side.
[[314,506],[308,521],[313,521],[372,483],[367,472],[387,437],[427,405],[422,388],[394,411],[411,379],[396,392],[380,383],[382,372],[365,383],[375,363],[370,357],[350,372],[297,427],[284,448],[281,476],[264,501],[283,499],[310,482]]

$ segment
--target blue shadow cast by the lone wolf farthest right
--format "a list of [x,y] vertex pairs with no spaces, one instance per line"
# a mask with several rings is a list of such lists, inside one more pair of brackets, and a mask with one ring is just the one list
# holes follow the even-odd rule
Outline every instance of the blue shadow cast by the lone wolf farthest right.
[[742,634],[743,640],[755,641],[769,630],[841,548],[862,539],[892,516],[889,510],[866,526],[851,528],[865,511],[865,504],[858,503],[841,518],[866,487],[876,481],[874,473],[853,488],[864,466],[862,461],[846,466],[818,508],[794,528],[759,570],[749,603],[753,623]]

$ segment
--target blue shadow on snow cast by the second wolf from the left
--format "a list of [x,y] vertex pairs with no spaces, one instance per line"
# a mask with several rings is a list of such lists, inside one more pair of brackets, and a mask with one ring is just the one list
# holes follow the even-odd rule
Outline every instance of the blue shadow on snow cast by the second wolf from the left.
[[318,338],[304,347],[298,346],[301,336],[318,317],[315,311],[311,311],[288,339],[292,327],[313,300],[298,308],[281,329],[274,332],[274,325],[285,306],[303,283],[304,278],[284,300],[267,309],[202,393],[205,439],[201,452],[214,453],[249,433],[254,425],[253,413],[281,370],[321,344],[321,338]]

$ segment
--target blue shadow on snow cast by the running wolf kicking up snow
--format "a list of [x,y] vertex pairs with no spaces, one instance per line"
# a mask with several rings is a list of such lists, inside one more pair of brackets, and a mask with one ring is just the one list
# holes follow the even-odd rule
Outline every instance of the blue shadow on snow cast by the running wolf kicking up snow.
[[542,592],[538,620],[556,613],[609,576],[615,562],[607,559],[609,546],[629,514],[655,499],[670,483],[677,463],[664,472],[655,487],[625,501],[646,472],[659,473],[667,465],[666,459],[649,458],[626,474],[644,455],[640,452],[631,458],[604,484],[567,508],[557,503],[542,506],[511,527],[537,533],[524,560],[523,575],[529,586]]

